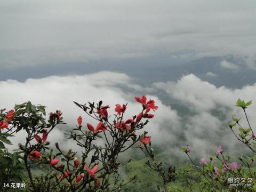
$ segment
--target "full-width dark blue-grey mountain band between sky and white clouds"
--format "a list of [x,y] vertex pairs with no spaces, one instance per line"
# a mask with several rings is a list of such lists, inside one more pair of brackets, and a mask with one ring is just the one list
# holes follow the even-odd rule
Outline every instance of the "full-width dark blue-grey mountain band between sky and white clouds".
[[[168,62],[170,65],[167,65]],[[135,81],[143,86],[154,82],[178,81],[183,75],[191,73],[217,87],[240,88],[247,84],[256,83],[256,70],[248,68],[243,58],[234,55],[204,57],[184,64],[175,61],[165,61],[165,63],[150,61],[147,63],[146,60],[134,59],[27,66],[0,70],[0,81],[11,78],[23,82],[27,78],[42,78],[51,75],[83,75],[102,70],[125,73],[135,77]]]

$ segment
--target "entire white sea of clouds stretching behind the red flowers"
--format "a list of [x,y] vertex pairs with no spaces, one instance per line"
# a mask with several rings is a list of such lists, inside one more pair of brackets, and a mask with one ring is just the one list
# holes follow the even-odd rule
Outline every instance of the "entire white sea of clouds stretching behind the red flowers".
[[[204,82],[193,74],[183,76],[177,82],[157,82],[149,87],[134,83],[134,79],[126,74],[101,71],[95,74],[81,76],[50,76],[41,79],[27,79],[20,83],[14,80],[0,82],[0,107],[12,109],[15,103],[30,100],[34,104],[47,106],[46,113],[61,110],[63,120],[67,125],[60,125],[49,135],[49,141],[54,145],[59,142],[63,148],[78,146],[65,140],[64,133],[70,131],[77,124],[77,117],[83,117],[86,123],[96,125],[90,117],[74,105],[73,101],[84,104],[87,101],[103,101],[103,105],[110,105],[109,114],[114,114],[116,103],[128,103],[125,118],[137,115],[141,110],[140,103],[134,100],[135,95],[145,93],[147,98],[154,99],[158,110],[153,112],[155,117],[149,119],[145,131],[152,137],[153,146],[165,151],[165,156],[185,158],[180,151],[180,145],[190,145],[193,156],[200,158],[214,154],[218,145],[230,153],[247,153],[241,149],[244,146],[231,134],[228,123],[232,116],[243,117],[243,111],[235,107],[238,98],[255,100],[256,84],[244,86],[242,89],[228,89],[215,87]],[[171,99],[178,100],[180,105],[186,106],[190,115],[182,115],[167,105],[158,97],[158,92],[165,92]],[[256,108],[253,104],[247,109],[252,127]],[[113,115],[110,117],[114,117]],[[245,118],[242,124],[246,125]],[[237,132],[236,128],[236,132]],[[26,141],[24,132],[19,132],[12,138],[13,146]],[[79,149],[78,149],[79,150]]]

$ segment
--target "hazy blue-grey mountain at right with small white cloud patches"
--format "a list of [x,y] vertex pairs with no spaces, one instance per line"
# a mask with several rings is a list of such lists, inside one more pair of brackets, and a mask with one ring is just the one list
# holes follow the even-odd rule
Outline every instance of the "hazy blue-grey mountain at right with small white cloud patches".
[[178,81],[183,75],[192,73],[217,87],[240,88],[256,83],[256,70],[250,69],[242,58],[233,55],[204,57],[178,66],[150,70],[147,75],[154,81]]

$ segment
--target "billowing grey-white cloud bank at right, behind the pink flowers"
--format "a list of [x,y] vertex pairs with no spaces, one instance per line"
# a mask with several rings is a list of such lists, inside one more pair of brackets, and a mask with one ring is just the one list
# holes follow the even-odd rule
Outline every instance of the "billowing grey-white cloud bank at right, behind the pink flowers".
[[[241,123],[248,127],[243,111],[235,107],[235,103],[238,98],[245,101],[255,98],[256,84],[242,89],[227,89],[224,86],[216,87],[190,74],[178,82],[155,83],[154,87],[189,108],[189,115],[182,118],[182,136],[185,138],[183,142],[191,145],[197,156],[214,154],[218,145],[233,154],[239,153],[244,147],[231,133],[228,123],[232,116],[243,117]],[[247,109],[252,125],[256,124],[255,113],[255,107]],[[238,133],[237,127],[234,131]],[[246,153],[246,150],[242,153]]]

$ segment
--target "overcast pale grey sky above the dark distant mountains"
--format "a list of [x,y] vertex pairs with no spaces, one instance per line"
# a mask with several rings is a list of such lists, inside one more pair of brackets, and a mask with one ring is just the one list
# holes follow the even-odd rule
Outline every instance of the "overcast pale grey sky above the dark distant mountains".
[[0,69],[239,54],[255,65],[255,1],[0,1]]

